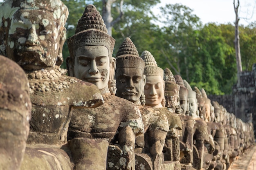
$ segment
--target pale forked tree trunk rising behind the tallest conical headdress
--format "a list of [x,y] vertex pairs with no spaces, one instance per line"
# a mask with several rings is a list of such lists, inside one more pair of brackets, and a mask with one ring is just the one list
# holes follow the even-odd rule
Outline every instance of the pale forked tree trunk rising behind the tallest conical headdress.
[[112,36],[112,27],[114,24],[119,22],[121,20],[121,17],[123,16],[123,4],[124,0],[120,0],[120,11],[119,16],[114,20],[111,13],[112,4],[116,2],[117,0],[102,0],[102,18],[104,20],[104,23],[106,24],[106,27],[108,29],[108,35]]

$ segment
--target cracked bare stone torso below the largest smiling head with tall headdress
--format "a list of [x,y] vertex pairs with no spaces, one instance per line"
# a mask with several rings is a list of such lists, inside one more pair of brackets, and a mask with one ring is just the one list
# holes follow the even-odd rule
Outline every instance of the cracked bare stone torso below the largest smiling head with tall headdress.
[[103,95],[103,100],[104,104],[97,108],[73,111],[68,139],[106,139],[116,144],[114,137],[120,127],[130,126],[135,133],[143,131],[141,115],[135,104],[109,94]]

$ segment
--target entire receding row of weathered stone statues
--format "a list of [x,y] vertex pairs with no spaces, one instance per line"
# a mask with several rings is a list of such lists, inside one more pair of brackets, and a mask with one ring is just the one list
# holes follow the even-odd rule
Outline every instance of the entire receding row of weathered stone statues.
[[[254,142],[245,123],[115,39],[93,5],[67,39],[60,0],[0,6],[0,170],[225,170]],[[11,59],[11,60],[10,60]]]

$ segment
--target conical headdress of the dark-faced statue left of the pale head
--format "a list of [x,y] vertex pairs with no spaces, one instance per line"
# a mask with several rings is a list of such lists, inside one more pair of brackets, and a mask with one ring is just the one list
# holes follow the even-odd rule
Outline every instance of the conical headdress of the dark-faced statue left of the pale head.
[[136,46],[126,38],[117,51],[117,68],[140,68],[144,72],[145,63],[139,57]]

